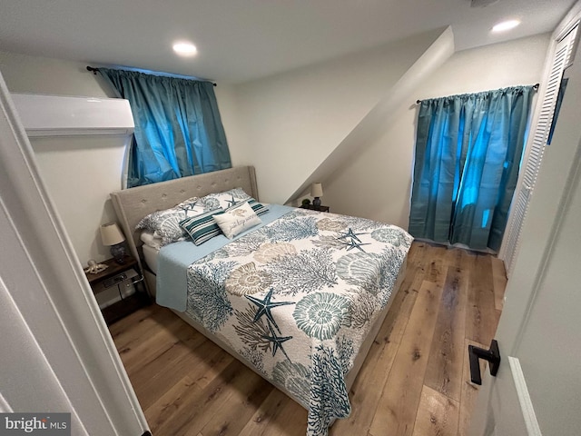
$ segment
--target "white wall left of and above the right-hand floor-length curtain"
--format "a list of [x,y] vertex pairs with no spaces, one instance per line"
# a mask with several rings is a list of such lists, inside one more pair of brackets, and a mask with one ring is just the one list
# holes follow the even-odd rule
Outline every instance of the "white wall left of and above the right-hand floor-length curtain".
[[350,163],[324,184],[332,212],[408,228],[417,99],[497,89],[541,80],[549,35],[458,52],[417,90],[381,139],[361,144]]

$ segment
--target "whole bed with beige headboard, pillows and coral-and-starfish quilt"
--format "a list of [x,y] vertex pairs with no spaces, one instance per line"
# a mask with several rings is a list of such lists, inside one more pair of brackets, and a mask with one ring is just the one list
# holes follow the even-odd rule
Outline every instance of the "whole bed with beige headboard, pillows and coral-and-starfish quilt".
[[[156,302],[305,407],[309,436],[328,434],[335,419],[350,414],[350,386],[399,289],[409,233],[260,203],[251,166],[111,197]],[[204,229],[204,241],[196,244],[201,233],[191,233],[196,243],[175,233],[159,251],[144,246],[144,217],[177,204],[183,221],[176,232],[210,217],[193,226]]]

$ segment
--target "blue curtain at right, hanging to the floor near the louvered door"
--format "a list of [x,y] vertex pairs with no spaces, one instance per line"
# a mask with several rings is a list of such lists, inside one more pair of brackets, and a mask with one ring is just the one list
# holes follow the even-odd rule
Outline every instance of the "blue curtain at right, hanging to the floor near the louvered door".
[[516,86],[421,102],[409,233],[498,251],[532,96]]

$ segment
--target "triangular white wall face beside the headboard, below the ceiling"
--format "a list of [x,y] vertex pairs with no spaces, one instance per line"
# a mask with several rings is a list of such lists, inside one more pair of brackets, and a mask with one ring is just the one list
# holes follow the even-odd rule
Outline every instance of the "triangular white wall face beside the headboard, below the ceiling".
[[236,88],[243,138],[261,200],[285,203],[442,30]]

